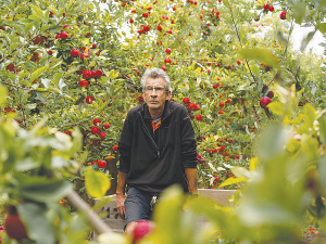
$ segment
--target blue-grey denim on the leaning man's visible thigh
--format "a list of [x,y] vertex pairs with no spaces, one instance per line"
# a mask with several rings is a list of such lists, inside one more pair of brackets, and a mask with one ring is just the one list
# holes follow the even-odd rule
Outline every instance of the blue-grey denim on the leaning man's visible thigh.
[[141,191],[137,188],[130,188],[127,191],[125,201],[125,228],[131,221],[149,219],[151,216],[151,201],[156,195]]

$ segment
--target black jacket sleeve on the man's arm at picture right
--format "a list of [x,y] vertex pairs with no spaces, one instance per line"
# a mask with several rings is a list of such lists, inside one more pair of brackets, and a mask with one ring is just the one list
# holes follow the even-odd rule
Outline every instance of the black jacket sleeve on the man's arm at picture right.
[[197,140],[189,114],[185,107],[181,112],[181,158],[185,168],[197,168]]

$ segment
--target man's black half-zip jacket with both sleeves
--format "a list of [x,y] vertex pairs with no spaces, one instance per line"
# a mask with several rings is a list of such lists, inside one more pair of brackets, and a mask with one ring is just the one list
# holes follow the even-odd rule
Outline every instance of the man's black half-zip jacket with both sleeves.
[[118,142],[120,171],[127,172],[127,187],[161,193],[172,184],[187,191],[185,168],[196,168],[197,141],[186,107],[166,101],[161,127],[153,138],[147,104],[131,108]]

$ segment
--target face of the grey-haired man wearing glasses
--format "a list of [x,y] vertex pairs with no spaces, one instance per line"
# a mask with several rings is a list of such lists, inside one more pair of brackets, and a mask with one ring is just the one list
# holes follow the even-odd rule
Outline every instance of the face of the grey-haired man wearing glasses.
[[163,78],[148,78],[145,82],[145,91],[142,91],[142,97],[147,102],[149,112],[158,113],[163,112],[165,100],[170,100],[171,98],[171,91],[165,90],[165,82]]

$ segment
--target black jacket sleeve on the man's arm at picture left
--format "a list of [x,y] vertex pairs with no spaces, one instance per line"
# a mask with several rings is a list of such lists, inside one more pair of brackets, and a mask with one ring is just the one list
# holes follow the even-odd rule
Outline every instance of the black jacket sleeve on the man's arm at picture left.
[[120,152],[118,170],[122,172],[128,172],[130,169],[131,144],[133,144],[133,121],[130,118],[130,113],[128,113],[118,141],[118,152]]

